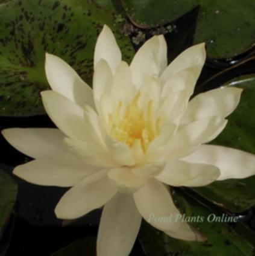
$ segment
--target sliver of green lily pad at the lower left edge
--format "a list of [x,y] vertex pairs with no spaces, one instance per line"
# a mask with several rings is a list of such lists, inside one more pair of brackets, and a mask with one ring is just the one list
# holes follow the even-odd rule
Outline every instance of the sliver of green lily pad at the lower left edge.
[[0,170],[0,238],[8,223],[17,196],[17,185]]

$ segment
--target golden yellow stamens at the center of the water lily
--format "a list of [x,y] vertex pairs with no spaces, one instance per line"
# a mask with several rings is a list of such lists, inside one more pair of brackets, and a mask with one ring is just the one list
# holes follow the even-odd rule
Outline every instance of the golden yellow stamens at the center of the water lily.
[[124,114],[121,115],[122,102],[120,101],[113,113],[109,115],[110,136],[130,147],[138,139],[143,152],[146,152],[148,145],[155,138],[152,118],[153,102],[148,101],[142,109],[137,103],[139,97],[140,92],[125,108]]

